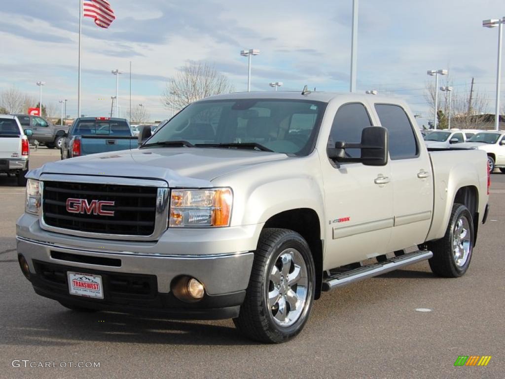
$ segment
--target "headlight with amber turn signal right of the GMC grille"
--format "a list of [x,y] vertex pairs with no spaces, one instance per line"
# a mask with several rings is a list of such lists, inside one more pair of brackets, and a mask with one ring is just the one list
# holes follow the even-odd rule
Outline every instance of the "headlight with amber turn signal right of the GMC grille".
[[173,189],[169,226],[229,226],[231,188]]

